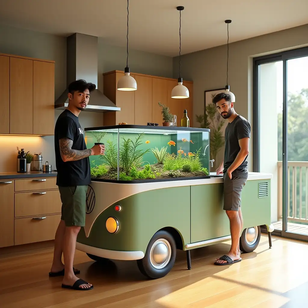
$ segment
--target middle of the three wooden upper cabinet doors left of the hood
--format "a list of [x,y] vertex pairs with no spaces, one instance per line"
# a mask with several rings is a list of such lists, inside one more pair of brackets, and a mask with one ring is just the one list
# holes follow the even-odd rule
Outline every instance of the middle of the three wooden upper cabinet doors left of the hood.
[[10,57],[10,134],[33,134],[33,60]]

